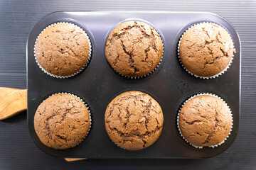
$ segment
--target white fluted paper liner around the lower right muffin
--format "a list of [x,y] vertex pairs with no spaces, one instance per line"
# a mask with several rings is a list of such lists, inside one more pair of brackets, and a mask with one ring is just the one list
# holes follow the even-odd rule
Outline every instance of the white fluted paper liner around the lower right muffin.
[[[186,138],[182,135],[181,129],[179,128],[179,123],[178,123],[179,114],[181,113],[181,108],[183,108],[183,106],[184,106],[188,101],[190,101],[192,98],[194,98],[194,97],[196,97],[196,96],[202,96],[202,95],[210,95],[210,96],[214,96],[214,97],[216,97],[216,98],[219,98],[221,101],[223,101],[223,102],[228,106],[228,104],[227,104],[222,98],[220,98],[219,96],[217,96],[217,95],[215,95],[215,94],[209,94],[209,93],[196,94],[196,95],[192,96],[191,98],[188,98],[185,102],[183,102],[182,106],[181,106],[181,107],[179,108],[179,110],[178,110],[177,127],[178,127],[178,132],[179,132],[179,134],[181,135],[181,137],[183,138],[183,140],[185,140],[186,142],[188,142],[188,140],[186,140]],[[232,124],[231,124],[230,132],[229,132],[228,136],[225,138],[225,140],[228,139],[228,137],[229,137],[229,135],[231,134],[231,131],[232,131],[232,129],[233,129],[233,114],[232,114],[232,111],[231,111],[231,109],[230,109],[229,106],[228,106],[228,108],[229,108],[230,113],[231,113]],[[225,142],[225,140],[223,140],[222,142],[220,142],[220,143],[217,144],[217,145],[211,145],[211,146],[208,146],[208,147],[212,147],[212,148],[213,148],[213,147],[218,147],[219,145],[222,145],[222,144]],[[198,147],[198,146],[196,146],[196,145],[193,145],[193,144],[191,144],[190,142],[188,142],[188,143],[189,143],[189,145],[191,145],[191,146],[193,146],[193,147],[196,147],[196,148],[198,148],[198,149],[202,149],[202,148],[203,148],[203,147]]]

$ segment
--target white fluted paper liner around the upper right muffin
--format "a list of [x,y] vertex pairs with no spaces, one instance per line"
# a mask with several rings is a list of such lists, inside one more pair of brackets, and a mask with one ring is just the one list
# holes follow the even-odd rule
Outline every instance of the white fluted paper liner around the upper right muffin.
[[[203,23],[211,23],[211,22],[203,22]],[[180,44],[181,44],[181,39],[183,38],[183,35],[185,35],[185,33],[186,33],[188,30],[190,30],[193,26],[200,25],[200,24],[202,24],[202,23],[196,23],[196,24],[193,24],[192,26],[190,26],[189,28],[187,28],[187,29],[183,32],[183,34],[181,35],[181,38],[180,38],[179,41],[178,41],[178,49],[177,49],[178,61],[180,62],[180,64],[181,64],[181,66],[183,67],[183,69],[186,69],[186,67],[185,67],[185,66],[183,65],[183,63],[181,62],[181,57],[180,57],[180,55],[179,55],[179,48],[180,48]],[[220,25],[218,25],[217,23],[214,23],[214,24],[217,25],[217,26],[220,26]],[[220,26],[220,27],[224,28],[223,26]],[[224,29],[225,29],[225,28],[224,28]],[[226,29],[225,29],[225,30],[226,30]],[[228,32],[228,30],[226,30],[226,31]],[[229,33],[229,32],[228,32],[228,33]],[[232,39],[231,35],[230,35],[230,38]],[[233,42],[233,48],[235,49],[234,42]],[[196,74],[193,74],[192,72],[188,71],[188,69],[186,69],[186,72],[188,72],[188,73],[191,74],[192,76],[197,77],[197,78],[200,78],[200,79],[214,79],[215,77],[219,77],[221,74],[223,74],[225,71],[228,70],[228,68],[230,67],[230,65],[231,65],[232,62],[233,62],[233,58],[234,58],[234,54],[233,54],[233,56],[232,56],[230,62],[228,63],[228,66],[227,66],[225,69],[223,69],[223,71],[221,71],[220,73],[218,73],[218,74],[216,74],[216,75],[214,75],[214,76],[212,76],[212,77],[200,77],[200,76],[198,76],[198,75],[196,75]]]

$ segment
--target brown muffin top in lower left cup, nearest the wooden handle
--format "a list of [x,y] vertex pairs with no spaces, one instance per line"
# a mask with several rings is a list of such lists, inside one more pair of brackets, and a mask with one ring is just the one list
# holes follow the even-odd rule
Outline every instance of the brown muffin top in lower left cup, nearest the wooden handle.
[[38,106],[34,127],[44,145],[68,149],[85,139],[90,129],[90,115],[79,98],[55,94]]

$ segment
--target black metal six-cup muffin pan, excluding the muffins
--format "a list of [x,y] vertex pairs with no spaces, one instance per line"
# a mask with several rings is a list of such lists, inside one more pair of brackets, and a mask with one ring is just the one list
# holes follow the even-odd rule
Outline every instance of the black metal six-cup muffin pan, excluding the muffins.
[[[105,43],[111,30],[129,20],[144,21],[153,26],[164,42],[163,60],[152,74],[141,79],[123,77],[105,59]],[[92,41],[92,57],[87,67],[68,79],[48,76],[36,64],[34,44],[39,33],[57,22],[75,23],[85,29]],[[188,74],[177,57],[177,43],[184,30],[195,23],[213,22],[230,33],[236,54],[224,74],[215,79],[200,79]],[[55,12],[43,17],[31,30],[27,42],[28,128],[33,141],[44,152],[55,157],[85,158],[204,158],[228,149],[238,134],[240,119],[240,39],[233,26],[214,13],[171,13],[137,11]],[[164,113],[164,128],[159,140],[146,149],[129,151],[117,147],[105,131],[104,115],[108,103],[124,91],[137,90],[158,101]],[[39,104],[51,94],[69,92],[80,96],[90,106],[92,128],[77,147],[55,150],[43,145],[34,130],[33,118]],[[233,130],[222,145],[196,149],[178,133],[178,108],[190,96],[216,94],[233,113]]]

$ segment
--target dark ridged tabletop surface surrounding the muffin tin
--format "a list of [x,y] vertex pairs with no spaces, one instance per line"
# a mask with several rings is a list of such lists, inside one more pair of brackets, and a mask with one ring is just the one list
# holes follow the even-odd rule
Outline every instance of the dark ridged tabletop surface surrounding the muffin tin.
[[[88,159],[65,162],[31,140],[26,112],[0,122],[0,169],[256,169],[256,1],[0,0],[0,86],[26,89],[26,40],[53,11],[208,11],[228,19],[242,42],[240,129],[233,145],[208,159]],[[171,145],[171,144],[170,144]]]

